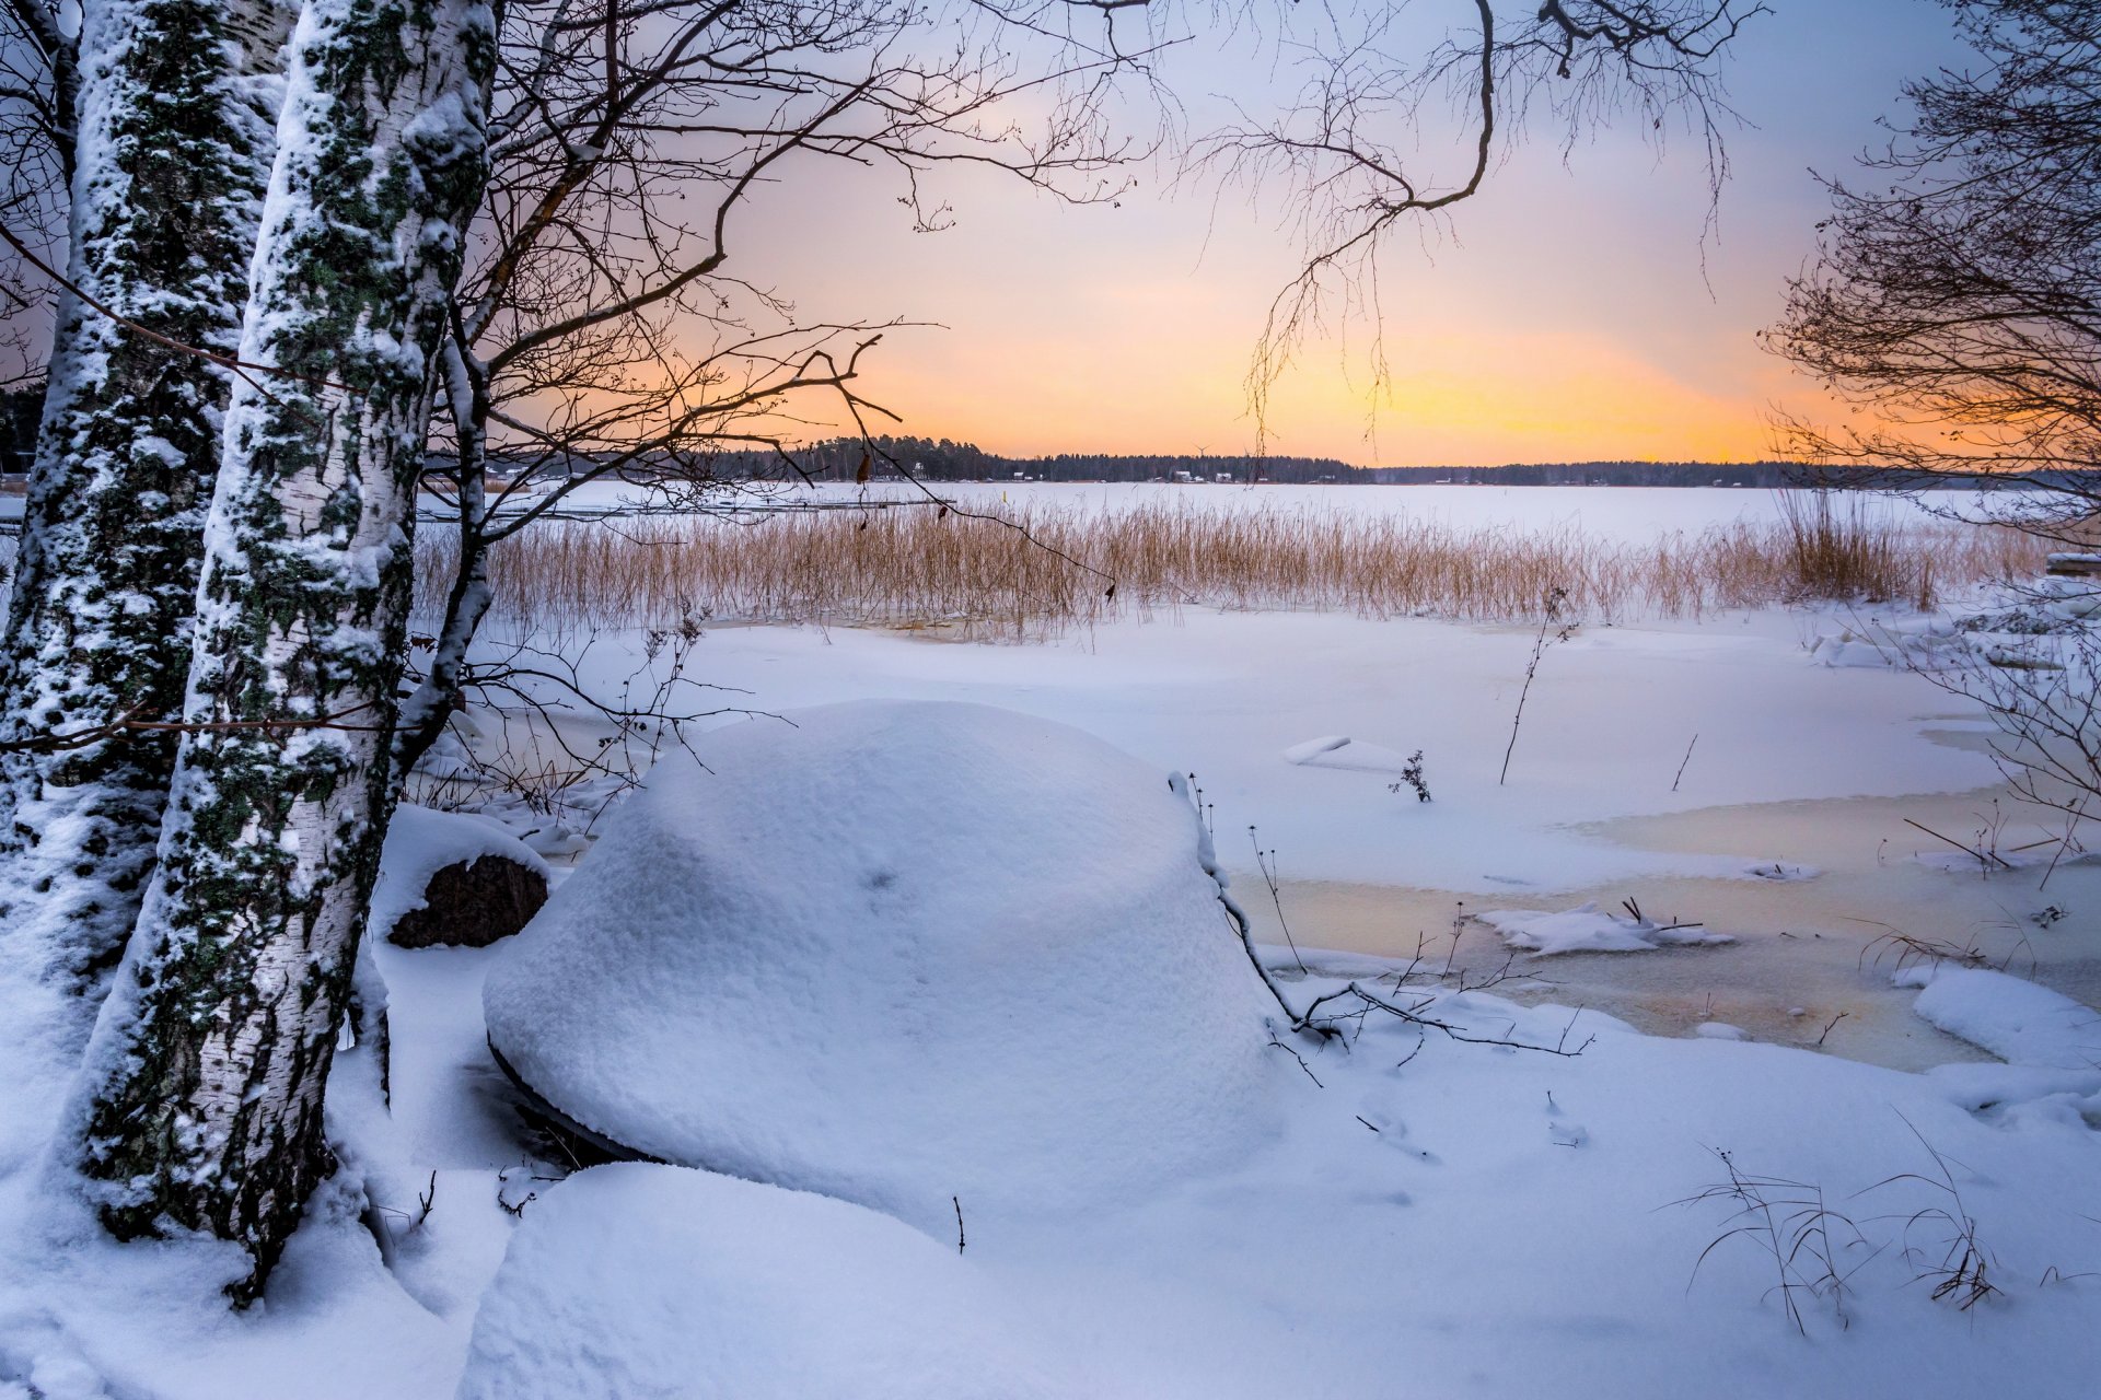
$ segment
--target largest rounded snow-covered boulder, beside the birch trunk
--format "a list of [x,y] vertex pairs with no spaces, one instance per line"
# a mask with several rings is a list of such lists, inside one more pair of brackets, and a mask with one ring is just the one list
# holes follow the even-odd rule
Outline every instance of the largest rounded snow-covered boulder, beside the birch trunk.
[[584,1127],[941,1234],[1128,1199],[1273,1125],[1261,984],[1164,772],[1048,720],[866,701],[660,764],[490,974]]

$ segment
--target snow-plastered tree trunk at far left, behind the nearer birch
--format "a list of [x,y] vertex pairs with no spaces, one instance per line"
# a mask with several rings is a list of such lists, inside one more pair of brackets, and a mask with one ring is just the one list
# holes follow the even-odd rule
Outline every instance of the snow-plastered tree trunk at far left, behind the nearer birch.
[[[219,355],[240,340],[290,27],[284,0],[84,8],[82,296],[55,327],[0,638],[0,741],[181,712],[229,374],[153,336]],[[0,978],[40,1022],[13,1028],[55,1062],[78,1056],[86,993],[132,930],[172,770],[172,739],[143,735],[0,758]]]

